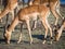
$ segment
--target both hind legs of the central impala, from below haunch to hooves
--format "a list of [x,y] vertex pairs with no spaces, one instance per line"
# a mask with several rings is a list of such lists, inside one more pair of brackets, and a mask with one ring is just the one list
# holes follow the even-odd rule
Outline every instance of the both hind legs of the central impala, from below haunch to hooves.
[[47,40],[48,28],[50,29],[51,44],[52,44],[52,29],[51,29],[51,27],[50,27],[49,23],[47,22],[47,20],[43,20],[43,21],[42,21],[42,24],[43,24],[43,26],[44,26],[44,28],[46,28],[44,40],[43,40],[43,42],[42,42],[42,44],[44,44],[44,42],[46,42],[46,40]]

